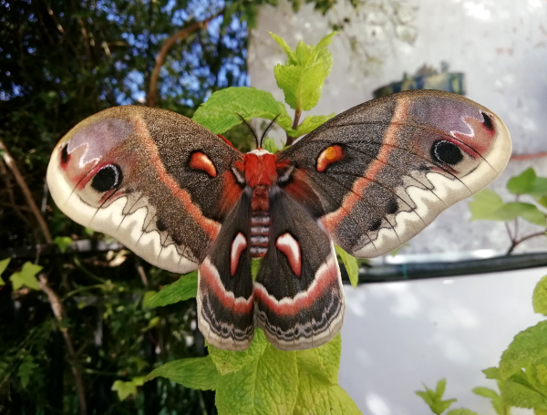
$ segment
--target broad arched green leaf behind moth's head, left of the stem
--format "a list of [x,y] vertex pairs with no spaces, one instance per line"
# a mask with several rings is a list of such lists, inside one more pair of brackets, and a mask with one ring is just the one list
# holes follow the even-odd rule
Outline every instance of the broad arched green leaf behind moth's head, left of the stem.
[[293,131],[292,120],[284,104],[275,100],[269,92],[256,88],[231,87],[212,94],[194,113],[193,120],[215,134],[240,124],[242,119],[274,119],[285,131]]

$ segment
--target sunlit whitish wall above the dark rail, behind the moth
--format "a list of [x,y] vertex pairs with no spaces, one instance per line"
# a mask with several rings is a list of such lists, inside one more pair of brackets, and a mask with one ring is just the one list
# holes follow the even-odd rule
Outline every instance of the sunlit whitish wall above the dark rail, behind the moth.
[[[468,98],[493,110],[505,121],[513,138],[514,154],[547,151],[544,132],[547,131],[547,2],[422,0],[407,4],[415,9],[409,15],[417,34],[412,46],[395,40],[377,16],[356,19],[347,32],[335,36],[330,47],[335,57],[333,70],[326,80],[323,98],[311,113],[349,109],[372,99],[374,89],[400,80],[403,72],[412,74],[424,63],[439,67],[439,62],[446,60],[451,70],[466,74]],[[345,13],[337,11],[330,18]],[[285,56],[268,31],[284,37],[295,47],[299,39],[314,44],[330,31],[328,27],[327,18],[314,13],[309,5],[297,15],[283,2],[278,8],[263,7],[249,50],[253,87],[284,99],[276,86],[273,67],[284,63]],[[361,44],[367,43],[369,53],[381,57],[383,64],[363,67],[362,59],[350,51],[347,36],[357,36]],[[492,188],[505,192],[509,177],[531,165],[547,176],[547,158],[511,161]],[[459,202],[442,213],[402,252],[481,248],[503,251],[509,247],[502,223],[469,223],[469,218],[468,202]],[[538,230],[533,225],[521,224],[521,234]],[[517,252],[544,251],[547,239],[532,239],[521,246]]]

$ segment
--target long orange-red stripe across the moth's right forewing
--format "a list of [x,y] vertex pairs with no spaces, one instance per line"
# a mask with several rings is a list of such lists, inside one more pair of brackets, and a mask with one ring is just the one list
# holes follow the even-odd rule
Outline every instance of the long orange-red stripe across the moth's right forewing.
[[335,233],[335,228],[346,217],[348,212],[351,212],[353,207],[361,199],[363,191],[370,182],[374,182],[374,179],[378,171],[382,170],[382,167],[386,165],[387,158],[392,149],[397,147],[397,133],[400,130],[403,122],[407,119],[408,109],[410,108],[410,101],[399,100],[397,101],[397,107],[393,114],[393,118],[389,123],[389,127],[384,135],[382,147],[377,155],[377,160],[372,161],[366,169],[364,177],[357,179],[352,186],[352,191],[346,195],[342,205],[335,210],[335,212],[327,213],[320,221],[325,226],[325,230],[328,233]]

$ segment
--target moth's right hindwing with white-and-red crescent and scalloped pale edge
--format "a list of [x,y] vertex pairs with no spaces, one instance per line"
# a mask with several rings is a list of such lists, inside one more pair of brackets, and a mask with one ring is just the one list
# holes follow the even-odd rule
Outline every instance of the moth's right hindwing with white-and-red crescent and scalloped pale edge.
[[268,251],[254,283],[258,327],[276,348],[315,348],[342,327],[344,291],[333,243],[276,187]]

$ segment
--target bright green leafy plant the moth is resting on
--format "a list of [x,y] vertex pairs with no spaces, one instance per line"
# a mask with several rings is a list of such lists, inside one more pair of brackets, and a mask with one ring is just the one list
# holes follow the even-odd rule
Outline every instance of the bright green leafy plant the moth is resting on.
[[[313,109],[321,97],[325,78],[333,65],[333,57],[326,47],[335,33],[325,36],[315,46],[301,41],[294,50],[281,37],[271,35],[287,54],[285,65],[274,67],[285,103],[256,88],[226,88],[213,93],[201,105],[194,114],[195,121],[222,134],[240,124],[242,117],[275,119],[286,133],[285,146],[288,146],[295,138],[315,130],[335,115],[308,116],[300,121],[303,111]],[[285,104],[294,110],[293,118]],[[264,147],[272,152],[280,150],[272,139],[265,140]],[[356,285],[356,259],[339,247],[336,253],[346,265],[352,284]],[[196,272],[184,275],[157,294],[146,293],[143,306],[167,306],[195,297],[197,285]],[[319,348],[287,352],[274,348],[256,328],[248,350],[227,351],[211,345],[207,348],[208,356],[170,361],[154,368],[145,380],[163,377],[186,388],[215,390],[215,404],[220,414],[360,413],[338,385],[340,335]],[[118,382],[113,389],[122,399],[134,394],[140,383],[141,379]]]

